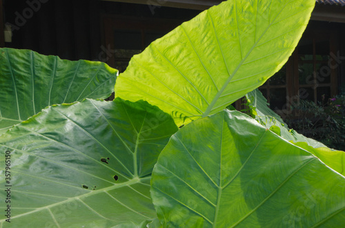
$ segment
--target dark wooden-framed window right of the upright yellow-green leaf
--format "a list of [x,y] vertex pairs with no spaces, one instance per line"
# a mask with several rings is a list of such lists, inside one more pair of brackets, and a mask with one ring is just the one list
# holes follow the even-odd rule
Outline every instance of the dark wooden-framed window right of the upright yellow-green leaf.
[[259,90],[279,114],[301,100],[328,101],[337,94],[335,32],[308,31],[290,59]]

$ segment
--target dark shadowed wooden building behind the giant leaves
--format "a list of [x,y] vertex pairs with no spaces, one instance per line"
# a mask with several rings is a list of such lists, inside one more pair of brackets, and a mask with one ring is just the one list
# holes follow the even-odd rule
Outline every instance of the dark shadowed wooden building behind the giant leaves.
[[[2,3],[1,3],[2,1]],[[273,110],[345,93],[345,0],[316,0],[288,63],[260,90]],[[0,45],[104,61],[124,71],[133,54],[219,0],[0,0]],[[8,31],[9,32],[9,31]],[[8,33],[7,33],[8,34]]]

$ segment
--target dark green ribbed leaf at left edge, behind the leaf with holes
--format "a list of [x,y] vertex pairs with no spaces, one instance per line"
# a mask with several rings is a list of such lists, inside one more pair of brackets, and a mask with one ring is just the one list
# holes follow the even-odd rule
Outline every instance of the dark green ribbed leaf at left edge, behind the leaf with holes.
[[49,105],[106,99],[116,78],[105,63],[0,48],[0,134]]

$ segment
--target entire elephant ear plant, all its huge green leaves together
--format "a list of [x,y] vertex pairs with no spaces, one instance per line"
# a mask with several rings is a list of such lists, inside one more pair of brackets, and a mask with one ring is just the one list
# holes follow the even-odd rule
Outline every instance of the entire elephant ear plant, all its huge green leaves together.
[[[265,127],[224,110],[284,65],[314,4],[233,0],[210,8],[134,56],[117,77],[114,101],[70,90],[78,70],[55,85],[52,57],[1,50],[0,110],[9,110],[2,120],[50,105],[0,136],[10,172],[0,182],[11,186],[1,226],[339,227],[344,152],[289,131],[257,103],[259,94],[250,102]],[[46,59],[15,57],[23,53]],[[116,70],[104,68],[112,78]],[[37,79],[40,72],[50,76]],[[19,85],[30,99],[7,101],[27,90]],[[52,105],[46,98],[56,87],[77,102]],[[36,94],[45,97],[39,106]]]

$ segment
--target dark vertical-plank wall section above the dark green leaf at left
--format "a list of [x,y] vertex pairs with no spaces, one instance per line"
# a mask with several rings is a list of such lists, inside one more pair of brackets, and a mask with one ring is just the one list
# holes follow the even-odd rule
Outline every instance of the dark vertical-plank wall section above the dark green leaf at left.
[[92,59],[101,45],[98,1],[4,0],[6,23],[12,25],[9,48],[30,49],[62,59]]

